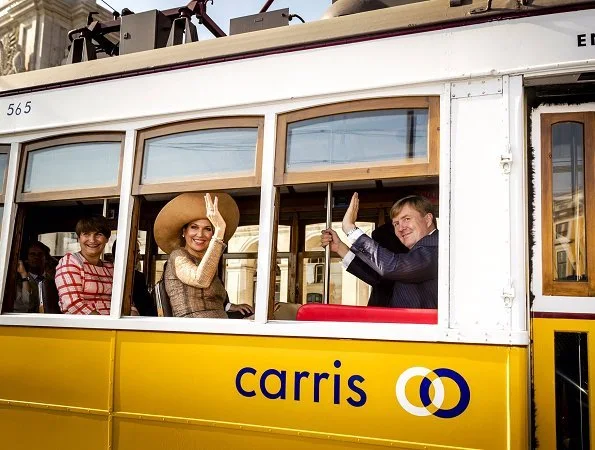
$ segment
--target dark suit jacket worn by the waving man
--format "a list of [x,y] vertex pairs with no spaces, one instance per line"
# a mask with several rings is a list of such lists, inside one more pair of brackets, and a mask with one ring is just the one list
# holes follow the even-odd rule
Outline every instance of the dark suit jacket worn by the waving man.
[[[394,281],[388,306],[438,307],[438,230],[420,239],[408,253],[393,253],[366,235],[353,243],[351,251],[356,255],[355,259],[372,269],[370,272],[354,266],[350,270],[362,281],[371,286],[382,279]],[[349,268],[351,266],[353,262]]]

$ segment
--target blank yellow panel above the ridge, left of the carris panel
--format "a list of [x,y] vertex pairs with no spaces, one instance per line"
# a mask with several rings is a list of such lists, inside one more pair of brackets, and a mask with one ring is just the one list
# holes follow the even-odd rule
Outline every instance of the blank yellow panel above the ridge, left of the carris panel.
[[115,335],[0,327],[0,399],[107,410]]

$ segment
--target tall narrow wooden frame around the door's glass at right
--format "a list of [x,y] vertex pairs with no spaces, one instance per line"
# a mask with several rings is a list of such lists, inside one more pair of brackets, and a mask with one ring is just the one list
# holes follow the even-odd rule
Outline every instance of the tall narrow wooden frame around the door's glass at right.
[[[584,126],[585,161],[585,227],[587,240],[587,281],[554,280],[553,182],[552,182],[552,126],[575,122]],[[595,112],[555,113],[541,115],[541,235],[543,294],[573,297],[595,295],[595,176],[588,167],[595,167]],[[557,272],[556,272],[557,273]]]

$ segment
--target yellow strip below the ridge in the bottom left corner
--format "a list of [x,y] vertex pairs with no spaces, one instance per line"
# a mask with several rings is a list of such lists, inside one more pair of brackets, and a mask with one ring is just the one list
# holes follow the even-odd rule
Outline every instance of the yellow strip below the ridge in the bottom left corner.
[[6,450],[106,450],[108,417],[0,406],[0,442]]

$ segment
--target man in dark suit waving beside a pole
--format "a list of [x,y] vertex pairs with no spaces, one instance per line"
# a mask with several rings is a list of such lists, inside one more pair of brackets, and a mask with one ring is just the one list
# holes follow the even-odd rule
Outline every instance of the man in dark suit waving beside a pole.
[[[342,223],[351,247],[332,229],[322,232],[323,247],[330,245],[331,251],[343,258],[344,267],[349,268],[356,258],[360,260],[356,264],[365,263],[373,271],[366,277],[368,280],[393,280],[389,307],[437,308],[438,230],[432,204],[424,197],[409,196],[391,208],[394,232],[409,249],[408,253],[391,252],[357,228],[358,209],[359,198],[355,193]],[[357,276],[371,284],[363,276]]]

